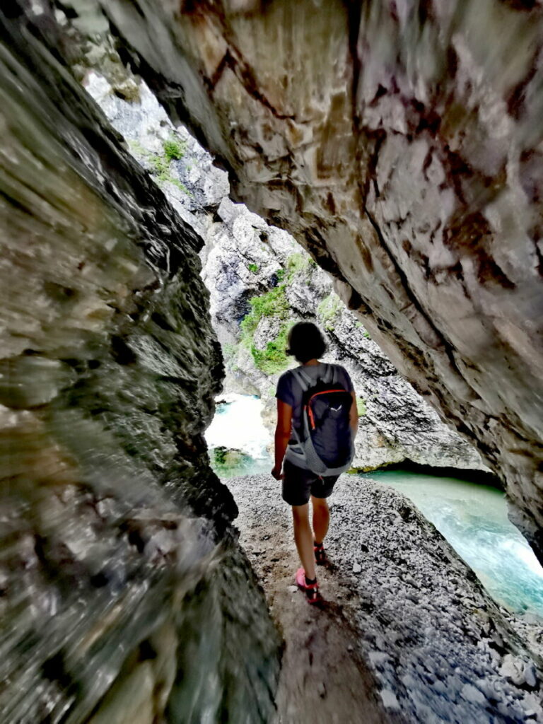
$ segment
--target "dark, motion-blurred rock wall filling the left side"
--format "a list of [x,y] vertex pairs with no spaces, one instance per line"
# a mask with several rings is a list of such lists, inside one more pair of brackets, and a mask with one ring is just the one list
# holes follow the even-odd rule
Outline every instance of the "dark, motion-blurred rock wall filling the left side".
[[0,719],[268,720],[278,636],[203,441],[203,242],[59,17],[0,12]]

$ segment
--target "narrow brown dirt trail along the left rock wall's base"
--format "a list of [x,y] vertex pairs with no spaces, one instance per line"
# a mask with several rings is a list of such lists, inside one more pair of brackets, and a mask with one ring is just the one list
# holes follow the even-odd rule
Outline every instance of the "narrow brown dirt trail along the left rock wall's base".
[[248,478],[227,481],[240,515],[240,544],[266,592],[285,639],[277,692],[277,724],[400,723],[384,710],[374,676],[354,645],[345,617],[351,597],[330,563],[317,569],[324,602],[316,608],[293,585],[300,565],[292,539],[290,509],[273,483],[255,494]]

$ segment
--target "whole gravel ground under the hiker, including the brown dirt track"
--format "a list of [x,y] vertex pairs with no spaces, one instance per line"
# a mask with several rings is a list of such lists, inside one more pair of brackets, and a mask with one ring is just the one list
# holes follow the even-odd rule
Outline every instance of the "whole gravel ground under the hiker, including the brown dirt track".
[[225,482],[285,638],[282,724],[543,723],[541,628],[497,607],[402,494],[355,476],[338,481],[329,564],[318,569],[326,602],[316,610],[292,586],[299,564],[277,481]]

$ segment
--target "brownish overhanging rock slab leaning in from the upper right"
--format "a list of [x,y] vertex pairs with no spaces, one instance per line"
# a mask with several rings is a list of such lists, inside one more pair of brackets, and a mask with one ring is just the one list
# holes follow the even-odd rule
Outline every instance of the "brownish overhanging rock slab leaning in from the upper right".
[[172,117],[506,481],[543,557],[543,10],[104,0]]

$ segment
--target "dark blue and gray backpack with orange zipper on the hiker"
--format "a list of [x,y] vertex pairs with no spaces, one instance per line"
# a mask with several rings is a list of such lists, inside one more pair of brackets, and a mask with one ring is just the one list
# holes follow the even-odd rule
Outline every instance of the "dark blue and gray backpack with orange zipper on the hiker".
[[327,364],[324,376],[314,381],[303,369],[292,369],[302,397],[301,434],[293,426],[298,445],[287,448],[291,463],[303,463],[319,476],[340,475],[354,457],[350,407],[353,397],[336,382],[334,366]]

